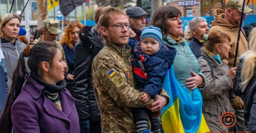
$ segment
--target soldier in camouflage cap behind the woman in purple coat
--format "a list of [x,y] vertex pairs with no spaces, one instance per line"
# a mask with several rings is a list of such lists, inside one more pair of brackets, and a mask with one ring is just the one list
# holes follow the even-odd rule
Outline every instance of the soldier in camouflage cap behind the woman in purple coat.
[[[58,21],[55,21],[52,19],[44,20],[43,29],[42,29],[43,35],[41,35],[38,38],[38,40],[34,40],[34,42],[29,42],[28,45],[30,45],[32,48],[35,44],[41,41],[55,42],[62,54],[63,61],[67,62],[64,54],[64,50],[61,44],[58,41],[56,41],[58,34],[62,33],[62,31],[59,29],[59,25],[60,23]],[[65,72],[68,72],[68,65],[67,65],[67,68],[65,69]]]

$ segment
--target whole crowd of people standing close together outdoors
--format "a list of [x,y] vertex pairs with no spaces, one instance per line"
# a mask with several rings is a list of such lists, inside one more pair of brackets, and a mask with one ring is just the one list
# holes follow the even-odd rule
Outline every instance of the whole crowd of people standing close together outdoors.
[[[4,14],[0,132],[256,132],[255,23],[241,30],[234,57],[242,5],[228,0],[210,24],[191,19],[186,34],[174,6],[161,6],[150,21],[137,6],[101,6],[95,26],[75,20],[62,33],[46,19],[29,41],[20,17]],[[242,21],[249,12],[245,4]],[[179,115],[166,118],[173,105]],[[236,117],[231,128],[222,124],[226,112]]]

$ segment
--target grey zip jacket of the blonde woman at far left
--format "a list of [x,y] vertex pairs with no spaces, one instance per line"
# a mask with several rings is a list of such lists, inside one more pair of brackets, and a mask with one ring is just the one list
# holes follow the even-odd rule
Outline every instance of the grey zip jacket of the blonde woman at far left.
[[[2,42],[3,55],[5,58],[4,60],[5,60],[5,66],[7,71],[7,77],[8,77],[7,87],[8,87],[8,90],[10,91],[12,86],[13,72],[17,67],[19,55],[23,53],[23,49],[26,48],[26,45],[21,41],[19,41],[18,39],[15,40],[15,45],[13,45],[11,42],[2,38],[1,38],[1,42]],[[17,48],[17,52],[15,51],[16,48]],[[25,61],[27,62],[27,58],[25,59]]]

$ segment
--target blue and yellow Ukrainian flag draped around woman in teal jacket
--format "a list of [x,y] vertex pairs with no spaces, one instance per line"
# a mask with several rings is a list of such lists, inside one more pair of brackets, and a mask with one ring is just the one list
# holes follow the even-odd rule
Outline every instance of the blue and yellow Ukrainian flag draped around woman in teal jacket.
[[198,88],[191,95],[177,81],[173,66],[167,71],[163,88],[170,98],[162,109],[162,128],[165,133],[210,132],[202,114],[202,95]]

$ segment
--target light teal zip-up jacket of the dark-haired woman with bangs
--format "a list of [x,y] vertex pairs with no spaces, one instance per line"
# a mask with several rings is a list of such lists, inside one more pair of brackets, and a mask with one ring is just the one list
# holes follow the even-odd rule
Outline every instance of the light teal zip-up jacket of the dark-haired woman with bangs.
[[183,39],[180,43],[177,43],[174,39],[172,39],[169,35],[167,38],[163,37],[163,43],[168,46],[176,48],[176,56],[173,62],[173,68],[175,72],[175,77],[179,81],[179,83],[192,94],[191,88],[187,88],[186,79],[193,77],[191,72],[197,73],[198,75],[204,78],[204,86],[198,87],[199,90],[204,89],[207,84],[207,80],[205,76],[199,72],[199,64],[197,58],[192,53],[191,49],[187,45],[185,39]]

